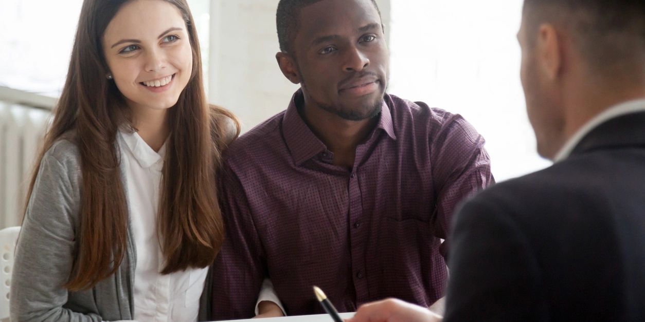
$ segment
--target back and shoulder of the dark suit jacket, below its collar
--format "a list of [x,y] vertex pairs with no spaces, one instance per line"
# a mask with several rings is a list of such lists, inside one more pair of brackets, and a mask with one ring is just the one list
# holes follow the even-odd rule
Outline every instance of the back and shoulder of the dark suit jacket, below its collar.
[[645,318],[645,149],[588,149],[455,216],[446,321]]

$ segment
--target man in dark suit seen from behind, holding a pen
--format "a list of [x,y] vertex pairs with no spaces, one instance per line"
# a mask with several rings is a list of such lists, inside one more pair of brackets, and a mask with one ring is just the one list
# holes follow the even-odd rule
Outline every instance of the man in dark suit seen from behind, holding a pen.
[[[645,1],[525,0],[537,173],[455,216],[447,321],[645,321]],[[434,321],[395,299],[351,320]]]

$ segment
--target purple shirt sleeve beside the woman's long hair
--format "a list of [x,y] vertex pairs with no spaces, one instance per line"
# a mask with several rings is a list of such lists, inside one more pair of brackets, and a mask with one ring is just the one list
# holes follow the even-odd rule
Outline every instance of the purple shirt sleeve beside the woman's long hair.
[[266,277],[265,255],[241,182],[224,164],[219,198],[226,240],[212,276],[212,319],[254,316],[257,296]]

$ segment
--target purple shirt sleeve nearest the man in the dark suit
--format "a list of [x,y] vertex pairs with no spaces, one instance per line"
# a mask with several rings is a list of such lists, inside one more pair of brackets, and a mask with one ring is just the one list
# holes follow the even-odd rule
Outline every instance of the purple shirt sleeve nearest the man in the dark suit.
[[431,161],[435,180],[435,236],[446,240],[439,248],[448,258],[448,235],[457,206],[468,196],[495,183],[484,138],[460,115],[444,120],[432,143]]

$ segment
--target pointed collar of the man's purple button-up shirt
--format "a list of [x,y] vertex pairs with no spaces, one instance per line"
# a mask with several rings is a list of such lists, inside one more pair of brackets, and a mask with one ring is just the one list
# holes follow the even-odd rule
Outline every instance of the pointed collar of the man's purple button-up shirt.
[[[392,102],[388,95],[386,95],[386,98]],[[313,134],[312,130],[307,126],[298,112],[297,104],[303,101],[303,91],[302,89],[299,89],[293,94],[289,107],[284,112],[283,118],[282,131],[284,141],[286,142],[296,166],[300,166],[306,160],[313,158],[313,156],[327,151],[327,147],[318,137],[316,137],[315,134]],[[385,131],[385,133],[387,133],[393,140],[397,139],[394,133],[392,113],[390,112],[390,107],[386,104],[386,100],[382,101],[379,124],[368,137],[373,137],[377,129]]]

